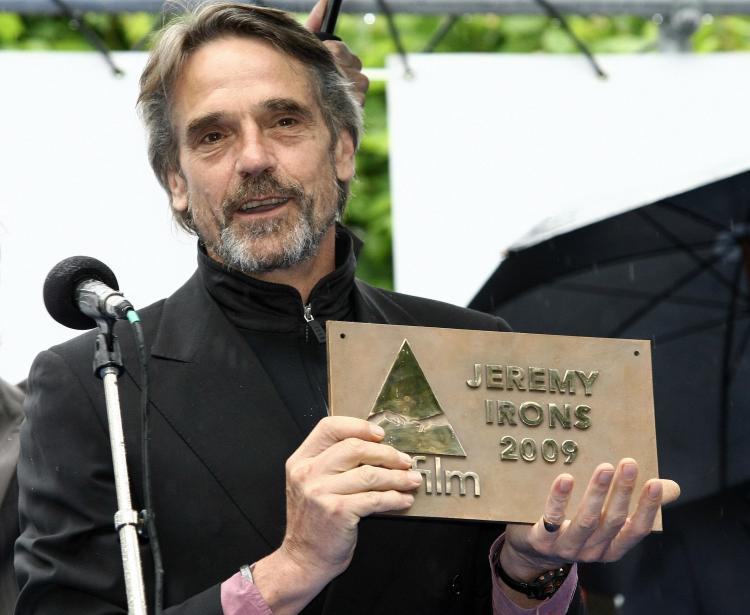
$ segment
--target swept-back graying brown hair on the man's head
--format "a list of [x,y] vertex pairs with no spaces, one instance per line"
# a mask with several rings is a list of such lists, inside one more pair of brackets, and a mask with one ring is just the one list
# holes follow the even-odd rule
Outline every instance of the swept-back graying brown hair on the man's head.
[[[362,109],[353,96],[353,84],[341,73],[331,52],[317,37],[283,11],[238,3],[210,3],[167,24],[143,70],[138,111],[148,133],[148,157],[159,183],[169,190],[169,175],[179,172],[179,144],[172,123],[175,84],[190,55],[199,47],[226,36],[258,38],[297,60],[306,68],[313,92],[333,142],[346,130],[359,145]],[[348,193],[346,184],[340,189]],[[342,199],[345,204],[346,198]],[[343,205],[339,205],[339,214]],[[193,231],[188,212],[176,220]]]

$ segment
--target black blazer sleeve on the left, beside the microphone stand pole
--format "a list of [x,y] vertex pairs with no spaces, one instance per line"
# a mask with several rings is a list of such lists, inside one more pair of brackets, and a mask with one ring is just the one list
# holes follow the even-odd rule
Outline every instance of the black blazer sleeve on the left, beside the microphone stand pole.
[[[127,612],[113,525],[117,501],[109,435],[95,401],[59,354],[37,357],[18,463],[19,614]],[[141,559],[148,587],[151,561],[145,546]],[[221,615],[220,585],[165,613]]]

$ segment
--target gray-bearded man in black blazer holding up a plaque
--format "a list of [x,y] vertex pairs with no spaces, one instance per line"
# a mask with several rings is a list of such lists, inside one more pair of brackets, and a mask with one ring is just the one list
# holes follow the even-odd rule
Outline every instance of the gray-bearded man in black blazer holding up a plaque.
[[[356,241],[336,220],[360,109],[330,54],[285,14],[215,5],[169,26],[139,103],[156,175],[200,238],[196,275],[141,311],[167,612],[560,613],[575,587],[567,562],[616,559],[648,533],[676,486],[649,481],[626,520],[633,460],[597,468],[571,520],[572,477],[558,477],[543,519],[495,542],[493,567],[495,525],[373,517],[408,508],[420,477],[381,430],[323,418],[325,321],[505,324],[355,280]],[[19,613],[124,609],[92,343],[55,347],[31,370]],[[124,407],[138,386],[135,373],[121,381]],[[137,417],[125,431],[138,468]],[[524,594],[542,574],[554,581],[546,602]]]

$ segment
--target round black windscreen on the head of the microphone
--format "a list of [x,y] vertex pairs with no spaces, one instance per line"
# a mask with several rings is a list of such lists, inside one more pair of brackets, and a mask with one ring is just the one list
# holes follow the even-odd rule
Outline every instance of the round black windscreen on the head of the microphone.
[[120,290],[112,270],[90,256],[71,256],[60,261],[44,281],[44,306],[57,322],[71,329],[93,329],[96,322],[76,304],[76,288],[84,280],[98,280]]

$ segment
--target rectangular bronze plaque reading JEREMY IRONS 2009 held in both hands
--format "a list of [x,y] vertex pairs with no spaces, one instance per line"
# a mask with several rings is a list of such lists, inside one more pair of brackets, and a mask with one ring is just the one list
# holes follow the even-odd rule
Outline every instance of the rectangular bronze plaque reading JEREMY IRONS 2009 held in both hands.
[[[535,523],[602,462],[658,476],[648,341],[329,322],[332,415],[383,427],[423,484],[405,513]],[[661,529],[658,516],[654,529]]]

